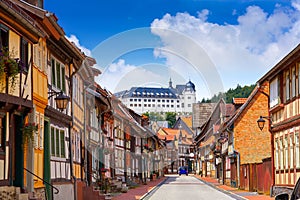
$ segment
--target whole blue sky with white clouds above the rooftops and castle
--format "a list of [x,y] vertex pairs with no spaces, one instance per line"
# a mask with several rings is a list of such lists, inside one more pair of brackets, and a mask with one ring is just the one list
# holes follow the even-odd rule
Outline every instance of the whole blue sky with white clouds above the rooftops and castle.
[[[117,92],[167,86],[170,77],[174,85],[191,79],[198,100],[255,83],[290,52],[300,41],[299,5],[298,0],[45,1],[66,36],[96,58],[103,87]],[[112,59],[103,62],[107,57]]]

